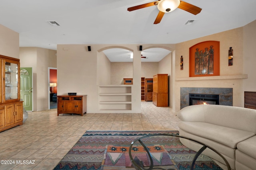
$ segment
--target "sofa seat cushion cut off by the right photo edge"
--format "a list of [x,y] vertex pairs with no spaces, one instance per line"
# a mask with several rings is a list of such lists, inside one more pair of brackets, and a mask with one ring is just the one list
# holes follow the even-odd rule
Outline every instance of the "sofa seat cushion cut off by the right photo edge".
[[256,136],[238,143],[237,149],[256,159]]

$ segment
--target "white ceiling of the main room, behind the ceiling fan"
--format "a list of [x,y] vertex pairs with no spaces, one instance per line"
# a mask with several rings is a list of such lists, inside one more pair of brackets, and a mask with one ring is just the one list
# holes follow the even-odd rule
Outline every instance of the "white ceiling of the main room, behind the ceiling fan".
[[[20,34],[20,47],[56,50],[57,44],[175,44],[256,19],[256,0],[185,0],[202,8],[200,14],[177,8],[159,24],[153,24],[157,6],[127,11],[148,2],[153,0],[0,0],[0,24]],[[197,22],[184,25],[190,19]],[[148,51],[142,54],[150,61]]]

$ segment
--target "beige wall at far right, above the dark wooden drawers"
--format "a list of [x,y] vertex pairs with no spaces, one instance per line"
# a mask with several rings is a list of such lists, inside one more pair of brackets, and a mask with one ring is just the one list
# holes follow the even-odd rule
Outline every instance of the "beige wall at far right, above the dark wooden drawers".
[[[243,82],[244,91],[256,91],[256,20],[244,26],[244,74],[248,74],[248,79]],[[236,53],[234,52],[236,56]]]

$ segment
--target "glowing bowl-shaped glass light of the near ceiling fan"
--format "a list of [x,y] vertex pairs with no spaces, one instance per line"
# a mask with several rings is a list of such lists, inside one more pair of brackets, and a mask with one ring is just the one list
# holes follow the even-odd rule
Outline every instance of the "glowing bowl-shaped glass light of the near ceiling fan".
[[172,12],[180,5],[180,0],[161,0],[157,8],[161,12]]

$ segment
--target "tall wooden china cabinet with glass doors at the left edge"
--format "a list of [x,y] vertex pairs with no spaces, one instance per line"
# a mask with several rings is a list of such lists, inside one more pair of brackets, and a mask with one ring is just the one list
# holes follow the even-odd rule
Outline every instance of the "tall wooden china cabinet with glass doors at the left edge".
[[0,132],[22,125],[23,103],[20,101],[20,60],[0,55]]

